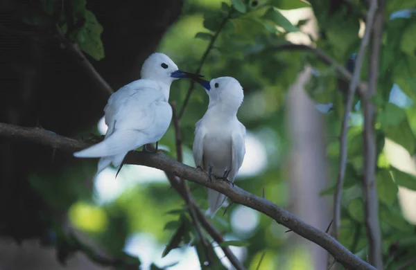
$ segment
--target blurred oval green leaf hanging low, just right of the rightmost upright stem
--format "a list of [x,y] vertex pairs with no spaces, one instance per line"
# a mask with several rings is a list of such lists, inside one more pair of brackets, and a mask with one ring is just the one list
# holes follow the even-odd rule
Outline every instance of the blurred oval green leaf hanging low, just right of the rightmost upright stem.
[[386,169],[379,170],[376,174],[377,193],[380,201],[385,204],[393,204],[397,198],[399,188],[393,181],[392,175]]

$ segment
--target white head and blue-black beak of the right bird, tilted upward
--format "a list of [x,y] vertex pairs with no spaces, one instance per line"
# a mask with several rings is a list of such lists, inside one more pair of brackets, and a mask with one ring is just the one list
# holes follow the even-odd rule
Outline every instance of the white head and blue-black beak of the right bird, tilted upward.
[[211,81],[194,79],[202,85],[209,96],[209,105],[223,104],[238,109],[243,102],[243,87],[232,77],[219,77]]

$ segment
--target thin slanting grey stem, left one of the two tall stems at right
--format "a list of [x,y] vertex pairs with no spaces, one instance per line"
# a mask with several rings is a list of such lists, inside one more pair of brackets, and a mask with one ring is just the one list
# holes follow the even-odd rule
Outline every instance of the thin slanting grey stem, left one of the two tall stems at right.
[[[354,94],[360,82],[361,66],[363,66],[363,60],[365,51],[370,40],[370,33],[372,31],[372,24],[374,21],[374,15],[376,12],[376,0],[372,1],[373,4],[368,10],[367,25],[365,26],[365,33],[361,40],[361,46],[356,57],[354,64],[354,73],[352,80],[349,82],[349,89],[347,93],[347,102],[345,104],[345,111],[343,116],[343,124],[341,129],[341,140],[340,140],[340,160],[338,169],[338,179],[336,181],[335,195],[333,197],[333,237],[338,239],[340,233],[340,222],[341,222],[341,200],[343,195],[343,185],[345,178],[345,170],[347,168],[347,141],[348,141],[348,129],[349,129],[349,114],[352,109],[354,102]],[[374,6],[375,3],[375,6]],[[363,95],[365,96],[365,95]],[[362,96],[362,97],[363,97]]]

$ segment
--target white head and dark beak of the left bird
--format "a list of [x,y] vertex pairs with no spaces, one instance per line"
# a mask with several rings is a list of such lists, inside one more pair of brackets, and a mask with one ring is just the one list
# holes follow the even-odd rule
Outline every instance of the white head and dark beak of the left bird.
[[171,84],[180,78],[201,78],[202,75],[180,71],[177,65],[164,53],[153,53],[141,67],[141,78]]

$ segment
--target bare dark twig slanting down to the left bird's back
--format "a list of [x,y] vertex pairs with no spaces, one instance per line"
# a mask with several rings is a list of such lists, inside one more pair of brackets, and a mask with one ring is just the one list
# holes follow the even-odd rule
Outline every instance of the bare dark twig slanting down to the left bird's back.
[[110,96],[112,93],[114,93],[113,89],[110,87],[110,84],[108,84],[103,77],[101,77],[100,73],[96,71],[94,66],[87,60],[87,57],[85,57],[84,53],[80,50],[78,44],[72,43],[60,30],[59,26],[55,26],[56,35],[58,36],[58,39],[60,42],[65,44],[67,46],[68,50],[73,53],[74,58],[80,63],[80,66],[84,69],[85,73],[91,77],[98,87],[100,88],[105,95]]

